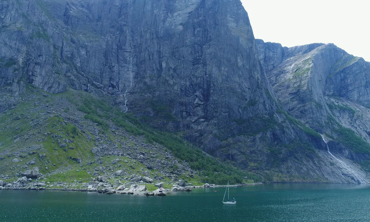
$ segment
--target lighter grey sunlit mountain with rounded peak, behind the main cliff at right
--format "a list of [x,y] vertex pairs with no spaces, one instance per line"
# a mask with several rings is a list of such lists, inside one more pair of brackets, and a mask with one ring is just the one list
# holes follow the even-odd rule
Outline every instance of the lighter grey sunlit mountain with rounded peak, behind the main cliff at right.
[[[271,45],[275,47],[269,49]],[[258,47],[262,49],[260,61],[287,111],[330,137],[329,147],[334,153],[367,165],[370,63],[334,44],[279,48],[279,44],[259,41]],[[266,61],[277,56],[264,51],[272,50],[282,50],[284,54],[268,66]]]

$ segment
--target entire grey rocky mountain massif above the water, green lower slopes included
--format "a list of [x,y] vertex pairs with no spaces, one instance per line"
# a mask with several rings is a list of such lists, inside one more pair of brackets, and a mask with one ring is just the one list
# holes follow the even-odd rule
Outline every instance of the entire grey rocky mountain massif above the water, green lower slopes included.
[[[154,155],[163,146],[186,162],[184,175],[197,173],[203,181],[233,172],[237,182],[243,174],[269,182],[367,182],[369,64],[334,45],[287,48],[255,40],[239,0],[10,0],[0,3],[0,24],[3,166],[30,145],[50,158],[90,162],[118,154],[139,161],[140,152]],[[54,124],[69,126],[59,128],[63,135],[46,131],[57,137],[40,138],[32,128],[11,124],[31,118],[34,125],[36,117],[24,112],[32,105],[28,98],[37,96],[35,106],[43,104],[37,118],[43,116],[40,126],[46,127],[38,131],[62,118]],[[50,143],[56,138],[85,145],[66,156]],[[190,144],[174,145],[181,139]],[[134,147],[120,145],[131,140]],[[102,155],[91,156],[94,146]],[[165,156],[156,159],[177,165]],[[62,164],[63,158],[54,159],[55,166],[44,161],[44,174],[73,169],[76,163]],[[211,161],[221,165],[212,168]],[[14,176],[30,169],[13,165]]]

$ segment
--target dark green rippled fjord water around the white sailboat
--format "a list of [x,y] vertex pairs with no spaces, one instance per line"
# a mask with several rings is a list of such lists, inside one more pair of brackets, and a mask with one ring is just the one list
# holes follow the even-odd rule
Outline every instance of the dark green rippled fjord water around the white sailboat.
[[[216,190],[217,192],[213,192]],[[263,184],[167,196],[68,191],[0,191],[0,221],[370,221],[370,185]],[[226,194],[227,195],[227,194]]]

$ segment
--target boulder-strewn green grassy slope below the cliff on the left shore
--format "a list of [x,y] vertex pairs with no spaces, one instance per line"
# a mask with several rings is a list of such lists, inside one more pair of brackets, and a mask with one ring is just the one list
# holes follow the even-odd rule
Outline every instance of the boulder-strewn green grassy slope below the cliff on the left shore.
[[[90,181],[91,173],[97,168],[103,168],[110,173],[123,169],[128,174],[141,174],[142,169],[146,169],[140,162],[126,157],[120,157],[121,166],[111,164],[111,160],[117,158],[114,156],[106,155],[95,159],[91,148],[96,146],[97,140],[94,132],[85,130],[88,128],[91,131],[99,131],[100,137],[107,138],[108,142],[104,142],[107,145],[122,150],[125,149],[122,144],[130,148],[135,147],[137,152],[150,152],[145,148],[148,147],[145,144],[164,147],[175,155],[178,162],[186,161],[198,172],[194,178],[189,174],[179,176],[179,179],[186,179],[194,185],[200,182],[253,182],[252,179],[258,179],[258,176],[240,171],[231,165],[218,164],[216,159],[206,157],[199,148],[193,147],[176,135],[154,130],[109,104],[107,100],[97,100],[87,92],[68,91],[51,95],[28,87],[23,100],[16,108],[0,114],[0,159],[4,158],[0,160],[1,174],[16,177],[15,174],[38,166],[47,182],[83,183]],[[74,118],[76,116],[80,118]],[[112,128],[117,130],[113,131]],[[120,133],[117,134],[117,131]],[[137,144],[130,138],[144,139],[142,144]],[[66,151],[65,148],[59,147],[58,139],[72,141],[66,143]],[[30,155],[31,151],[36,153]],[[13,162],[13,158],[19,159],[20,162]],[[82,163],[78,164],[70,158],[80,158]],[[31,160],[36,164],[27,165]],[[176,167],[177,165],[174,170]],[[76,172],[77,170],[79,172]],[[151,176],[164,175],[154,169],[149,170],[149,173]],[[244,179],[246,175],[250,178],[248,181]],[[125,182],[123,177],[110,180],[113,182],[117,179]],[[164,177],[163,181],[169,183],[171,179]]]

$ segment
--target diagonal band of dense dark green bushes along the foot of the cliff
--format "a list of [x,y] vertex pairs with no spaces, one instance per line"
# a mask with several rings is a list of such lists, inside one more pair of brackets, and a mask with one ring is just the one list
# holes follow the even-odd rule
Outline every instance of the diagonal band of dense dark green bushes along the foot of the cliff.
[[[198,170],[202,175],[202,182],[225,184],[227,181],[242,183],[246,172],[231,165],[219,164],[214,158],[203,155],[201,149],[192,147],[178,136],[155,130],[142,123],[130,114],[121,112],[118,108],[108,104],[107,101],[97,100],[85,92],[68,92],[70,102],[77,105],[78,110],[85,113],[85,118],[97,123],[100,128],[107,131],[111,121],[133,135],[143,135],[150,144],[157,142],[171,150],[175,157],[189,162],[192,169]],[[157,106],[158,110],[165,110]]]

